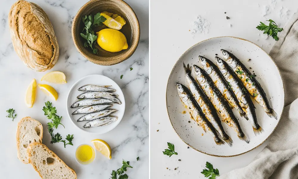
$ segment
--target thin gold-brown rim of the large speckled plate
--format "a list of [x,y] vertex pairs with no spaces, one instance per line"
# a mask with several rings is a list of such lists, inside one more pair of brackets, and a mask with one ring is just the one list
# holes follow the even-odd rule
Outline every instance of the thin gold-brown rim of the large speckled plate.
[[[200,42],[194,44],[193,46],[191,46],[190,48],[188,48],[188,49],[187,49],[187,50],[186,50],[186,51],[185,51],[185,52],[178,58],[178,60],[177,60],[176,63],[174,64],[174,66],[173,66],[173,68],[172,68],[172,70],[171,70],[171,72],[170,72],[169,78],[168,78],[168,80],[167,80],[167,87],[166,87],[166,107],[167,107],[167,114],[168,114],[170,123],[171,123],[171,125],[172,125],[174,131],[176,132],[176,134],[178,135],[178,137],[179,137],[184,143],[186,143],[186,142],[179,136],[179,134],[177,133],[177,131],[175,130],[175,128],[174,128],[174,126],[173,126],[173,124],[172,124],[172,121],[171,121],[171,119],[170,119],[170,115],[169,115],[169,109],[168,109],[168,106],[167,106],[167,88],[168,88],[168,85],[169,85],[169,79],[170,79],[170,76],[172,75],[173,70],[174,70],[174,67],[176,66],[176,64],[178,63],[178,61],[180,60],[180,58],[181,58],[185,53],[187,53],[191,48],[193,48],[194,46],[196,46],[196,45],[198,45],[198,44],[200,44],[200,43],[202,43],[202,42],[204,42],[204,41],[211,40],[211,39],[214,39],[214,38],[223,38],[223,37],[238,38],[238,39],[240,39],[240,40],[248,41],[248,42],[250,42],[250,43],[256,45],[257,47],[259,47],[261,50],[263,50],[263,51],[269,56],[269,58],[271,59],[271,61],[273,61],[274,65],[277,67],[275,61],[271,58],[271,56],[270,56],[264,49],[262,49],[260,46],[258,46],[258,45],[255,44],[254,42],[249,41],[249,40],[246,40],[246,39],[244,39],[244,38],[233,37],[233,36],[219,36],[219,37],[212,37],[212,38],[208,38],[208,39],[206,39],[206,40],[200,41]],[[278,67],[277,67],[277,70],[278,70],[278,72],[279,72],[279,74],[280,74],[281,81],[282,81],[282,83],[283,83],[283,92],[284,92],[284,98],[283,98],[283,110],[284,110],[284,108],[285,108],[285,88],[284,88],[283,76],[281,75],[280,70],[279,70]],[[279,117],[279,119],[278,119],[278,122],[277,122],[276,126],[274,127],[273,131],[271,132],[271,134],[268,135],[268,137],[267,137],[263,142],[261,142],[259,145],[255,146],[253,149],[250,149],[250,150],[248,150],[248,151],[246,151],[246,152],[243,152],[243,153],[241,153],[241,154],[237,154],[237,155],[227,155],[227,156],[226,156],[226,155],[213,155],[213,154],[209,154],[209,153],[207,153],[207,152],[203,152],[203,151],[201,151],[201,150],[195,149],[193,146],[189,145],[188,143],[186,143],[186,144],[187,144],[188,146],[190,146],[191,148],[195,149],[196,151],[199,151],[199,152],[201,152],[201,153],[204,153],[204,154],[207,154],[207,155],[211,155],[211,156],[214,156],[214,157],[236,157],[236,156],[239,156],[239,155],[242,155],[242,154],[246,154],[247,152],[250,152],[250,151],[256,149],[257,147],[259,147],[260,145],[262,145],[262,144],[263,144],[263,143],[264,143],[264,142],[265,142],[265,141],[266,141],[266,140],[273,134],[273,132],[275,131],[276,127],[277,127],[278,124],[280,123],[280,118],[283,116],[283,110],[282,110],[281,115],[280,115],[280,117]]]

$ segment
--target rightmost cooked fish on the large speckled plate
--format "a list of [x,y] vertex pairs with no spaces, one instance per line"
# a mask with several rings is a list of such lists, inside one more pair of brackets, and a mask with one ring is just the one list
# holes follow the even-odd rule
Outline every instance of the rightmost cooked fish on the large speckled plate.
[[263,107],[264,111],[271,118],[277,119],[276,112],[270,107],[266,94],[260,83],[254,78],[254,75],[235,57],[232,53],[221,49],[224,61],[235,72],[235,74],[243,82],[244,87],[253,96],[253,98]]

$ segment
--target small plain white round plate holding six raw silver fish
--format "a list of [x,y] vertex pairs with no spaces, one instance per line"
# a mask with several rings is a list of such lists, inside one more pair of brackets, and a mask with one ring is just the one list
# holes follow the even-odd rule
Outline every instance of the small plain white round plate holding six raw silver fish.
[[[113,107],[111,107],[110,109],[118,110],[117,112],[111,114],[113,116],[118,117],[117,121],[115,121],[111,124],[108,124],[106,126],[90,127],[90,128],[83,127],[88,121],[77,122],[78,118],[80,118],[86,114],[72,115],[72,113],[75,112],[75,110],[77,110],[79,108],[70,108],[70,106],[78,101],[78,99],[77,99],[78,95],[84,93],[84,91],[78,91],[77,89],[79,89],[82,86],[89,85],[89,84],[96,84],[96,85],[100,85],[100,86],[111,85],[111,88],[116,90],[113,93],[119,95],[117,98],[122,102],[122,104],[113,104]],[[111,78],[108,78],[103,75],[88,75],[88,76],[85,76],[85,77],[79,79],[70,88],[68,96],[67,96],[67,100],[66,100],[66,109],[67,109],[67,114],[68,114],[70,120],[79,129],[89,132],[89,133],[103,134],[103,133],[109,132],[110,130],[114,129],[120,123],[120,121],[124,115],[124,111],[125,111],[125,100],[124,100],[124,95],[123,95],[121,88]]]

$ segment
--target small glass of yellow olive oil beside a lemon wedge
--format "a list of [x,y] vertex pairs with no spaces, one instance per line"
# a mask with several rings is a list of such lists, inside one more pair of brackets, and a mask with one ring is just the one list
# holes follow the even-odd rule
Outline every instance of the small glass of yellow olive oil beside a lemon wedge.
[[96,153],[92,146],[88,144],[81,144],[77,147],[75,152],[75,159],[82,165],[88,165],[94,161]]

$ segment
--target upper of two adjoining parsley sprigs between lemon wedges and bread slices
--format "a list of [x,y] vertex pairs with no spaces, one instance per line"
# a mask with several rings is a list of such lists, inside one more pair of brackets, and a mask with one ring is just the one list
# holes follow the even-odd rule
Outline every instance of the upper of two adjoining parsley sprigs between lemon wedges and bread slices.
[[[62,117],[59,117],[58,115],[56,115],[57,110],[56,110],[56,107],[52,107],[52,103],[47,101],[44,104],[45,104],[45,106],[42,109],[44,111],[44,115],[47,116],[48,119],[52,119],[52,122],[48,122],[48,126],[50,128],[55,127],[57,129],[58,125],[61,124]],[[61,124],[61,125],[63,126],[63,124]]]

